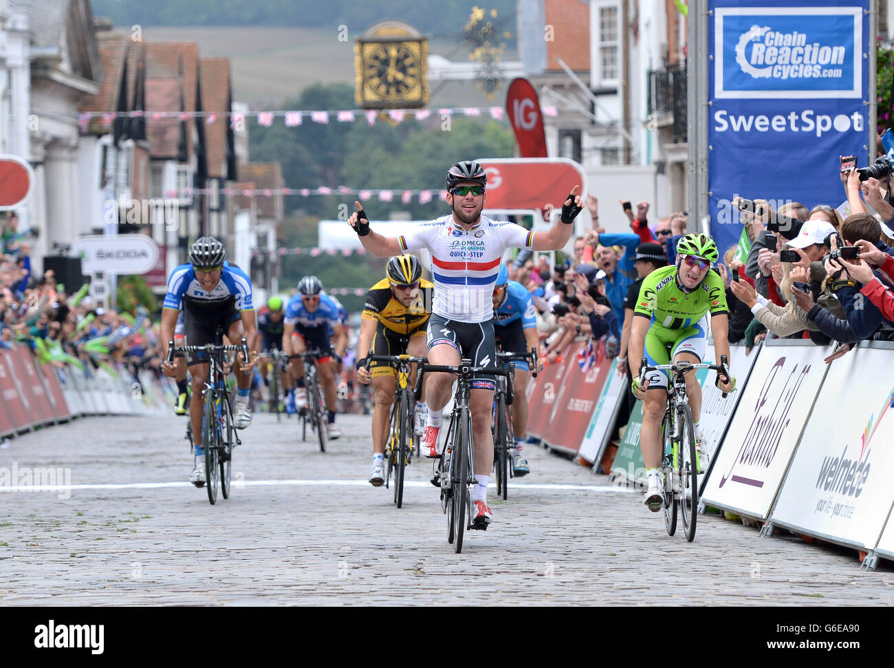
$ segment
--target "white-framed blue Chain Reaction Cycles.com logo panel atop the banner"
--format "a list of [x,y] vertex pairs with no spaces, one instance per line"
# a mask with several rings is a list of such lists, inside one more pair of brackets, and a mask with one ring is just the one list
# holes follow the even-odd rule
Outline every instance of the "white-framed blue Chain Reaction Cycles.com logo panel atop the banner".
[[858,7],[719,8],[715,97],[861,97]]

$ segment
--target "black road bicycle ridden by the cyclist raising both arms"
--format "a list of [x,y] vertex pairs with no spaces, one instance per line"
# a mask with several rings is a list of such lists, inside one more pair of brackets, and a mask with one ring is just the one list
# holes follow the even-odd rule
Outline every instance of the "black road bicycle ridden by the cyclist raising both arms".
[[[448,373],[457,376],[453,395],[450,427],[444,440],[441,456],[435,461],[437,470],[432,482],[441,487],[441,509],[447,515],[447,542],[457,554],[462,552],[462,538],[468,519],[471,518],[471,496],[468,486],[476,484],[475,449],[472,444],[472,413],[468,406],[472,377],[502,376],[506,378],[506,405],[512,405],[515,394],[515,363],[505,369],[473,367],[471,359],[461,359],[459,366],[420,365],[416,376],[414,394],[418,398],[422,388],[422,376],[426,373]],[[486,529],[487,525],[480,528]]]

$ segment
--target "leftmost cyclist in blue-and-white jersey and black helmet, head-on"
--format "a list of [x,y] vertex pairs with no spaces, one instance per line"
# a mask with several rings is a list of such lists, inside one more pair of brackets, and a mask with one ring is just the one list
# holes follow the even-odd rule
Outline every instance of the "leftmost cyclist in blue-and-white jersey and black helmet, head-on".
[[[162,362],[165,376],[177,376],[177,364],[166,363],[168,342],[173,340],[177,317],[181,310],[186,313],[186,340],[190,345],[215,343],[218,326],[231,341],[238,342],[245,336],[248,340],[251,358],[246,363],[242,353],[236,354],[233,372],[236,375],[236,400],[233,418],[237,429],[251,424],[249,410],[249,388],[251,371],[257,359],[257,322],[255,309],[251,303],[251,281],[236,266],[228,265],[223,243],[214,237],[201,237],[190,247],[190,264],[178,266],[168,278],[167,294],[162,311]],[[201,487],[205,485],[205,466],[201,458],[202,449],[202,390],[208,378],[207,355],[190,353],[187,359],[192,376],[192,398],[190,399],[190,420],[195,446],[194,468],[190,482]]]

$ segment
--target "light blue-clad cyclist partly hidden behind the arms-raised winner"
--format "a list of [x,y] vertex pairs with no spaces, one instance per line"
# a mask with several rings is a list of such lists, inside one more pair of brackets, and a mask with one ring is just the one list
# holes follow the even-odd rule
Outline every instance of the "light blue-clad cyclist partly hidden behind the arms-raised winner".
[[[509,280],[506,265],[500,266],[493,288],[493,335],[504,352],[523,353],[536,350],[540,344],[537,318],[531,293],[521,283]],[[540,362],[538,360],[537,364]],[[539,369],[538,369],[539,370]],[[530,366],[527,360],[515,362],[515,386],[519,393],[527,386]],[[512,455],[513,473],[521,478],[531,472],[521,452],[527,432],[527,402],[512,402],[512,430],[515,432],[515,454]]]

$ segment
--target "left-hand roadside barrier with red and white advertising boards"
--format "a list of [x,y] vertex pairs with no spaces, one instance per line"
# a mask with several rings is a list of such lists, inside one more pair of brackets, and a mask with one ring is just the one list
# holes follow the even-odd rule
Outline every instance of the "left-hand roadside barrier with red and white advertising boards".
[[176,385],[151,372],[40,364],[30,347],[0,350],[0,437],[88,415],[169,415]]

